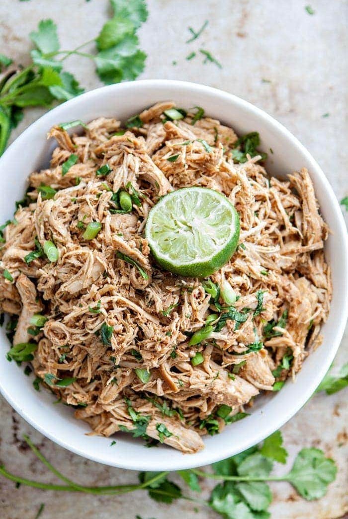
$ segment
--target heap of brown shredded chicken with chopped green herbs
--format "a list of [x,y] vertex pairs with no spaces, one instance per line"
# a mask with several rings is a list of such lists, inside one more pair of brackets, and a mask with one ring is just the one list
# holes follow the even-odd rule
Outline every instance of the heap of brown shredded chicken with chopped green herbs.
[[[103,117],[83,134],[50,131],[58,143],[50,167],[30,175],[29,203],[3,231],[0,310],[12,315],[14,345],[37,343],[35,375],[94,434],[128,431],[194,453],[203,434],[221,431],[227,415],[244,416],[320,344],[331,298],[328,230],[307,170],[279,180],[261,156],[238,163],[232,128],[190,112],[166,120],[173,107],[157,103],[125,131]],[[64,172],[71,154],[78,160]],[[207,280],[159,269],[143,238],[159,197],[193,185],[223,193],[239,213],[239,247],[210,277],[216,287],[230,283],[239,317],[223,320],[225,302],[206,291]],[[119,189],[131,195],[131,212],[120,209]],[[88,240],[90,222],[101,228]],[[42,251],[47,240],[58,261]],[[210,313],[222,325],[190,346]],[[37,314],[46,322],[33,330]]]

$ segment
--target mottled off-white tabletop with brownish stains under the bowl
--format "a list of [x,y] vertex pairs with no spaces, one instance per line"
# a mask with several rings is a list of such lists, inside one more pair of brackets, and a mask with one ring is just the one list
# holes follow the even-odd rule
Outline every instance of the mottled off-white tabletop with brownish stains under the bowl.
[[[186,79],[224,89],[255,103],[292,131],[325,171],[337,196],[348,195],[347,182],[347,4],[341,0],[311,0],[315,15],[304,9],[307,0],[148,0],[150,17],[140,31],[141,48],[149,54],[142,78]],[[106,0],[2,0],[0,2],[0,52],[18,63],[28,61],[28,34],[42,18],[58,23],[63,49],[73,48],[97,34],[108,15]],[[189,45],[186,29],[209,26]],[[203,57],[186,61],[199,48],[209,50],[223,65],[203,65]],[[177,64],[173,65],[172,62]],[[98,87],[93,66],[71,58],[66,69],[75,73],[86,89]],[[265,79],[269,82],[262,81]],[[27,110],[19,134],[44,111]],[[329,116],[323,118],[323,114]],[[4,174],[4,172],[2,172]],[[26,174],[26,172],[23,172]],[[347,360],[347,335],[336,365]],[[339,466],[336,482],[320,501],[300,499],[286,483],[273,484],[273,519],[333,519],[348,511],[347,390],[319,394],[283,429],[291,460],[303,446],[324,449]],[[30,433],[43,453],[59,470],[81,484],[111,485],[135,482],[137,474],[98,465],[71,454],[35,432],[0,398],[0,460],[12,472],[55,481],[23,447],[23,433]],[[280,471],[283,471],[283,467]],[[212,485],[203,482],[208,497]],[[4,519],[34,519],[40,503],[42,519],[170,519],[217,517],[207,509],[194,511],[185,501],[157,504],[145,493],[115,497],[45,492],[28,487],[15,489],[0,478],[0,515]]]

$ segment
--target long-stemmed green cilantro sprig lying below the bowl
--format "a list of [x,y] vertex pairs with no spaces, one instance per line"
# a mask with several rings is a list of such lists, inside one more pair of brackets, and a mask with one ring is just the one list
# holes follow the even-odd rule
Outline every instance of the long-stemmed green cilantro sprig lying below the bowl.
[[[148,417],[137,413],[127,402],[128,412],[136,429],[133,434],[146,436]],[[149,417],[150,418],[150,417]],[[157,424],[157,432],[163,434],[163,439],[170,436],[164,424]],[[180,470],[179,476],[194,492],[200,492],[200,478],[218,480],[212,489],[209,499],[202,500],[185,495],[183,490],[168,479],[168,472],[141,472],[138,484],[117,486],[82,486],[59,472],[43,456],[41,451],[32,443],[28,436],[24,441],[32,449],[37,458],[44,463],[64,484],[51,484],[32,481],[10,473],[4,466],[0,467],[0,475],[21,485],[41,488],[45,490],[60,490],[83,492],[96,495],[117,495],[145,490],[157,502],[170,504],[176,499],[185,499],[199,503],[216,511],[222,517],[229,519],[260,519],[270,517],[268,508],[272,502],[272,491],[268,482],[286,481],[290,483],[307,501],[323,497],[328,485],[334,481],[337,467],[334,461],[327,458],[322,450],[317,448],[303,448],[293,462],[292,468],[286,474],[272,475],[274,462],[285,463],[288,453],[283,446],[280,431],[276,431],[267,438],[262,445],[256,445],[244,452],[219,461],[212,465],[213,472],[199,469]],[[112,442],[112,445],[117,444]]]

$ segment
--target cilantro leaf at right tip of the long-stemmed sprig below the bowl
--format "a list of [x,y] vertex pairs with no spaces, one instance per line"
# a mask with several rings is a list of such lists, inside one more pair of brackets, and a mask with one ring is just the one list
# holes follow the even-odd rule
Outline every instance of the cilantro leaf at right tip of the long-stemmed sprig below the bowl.
[[326,494],[327,486],[335,479],[336,473],[334,461],[326,458],[322,450],[305,448],[297,455],[286,480],[302,497],[311,501]]

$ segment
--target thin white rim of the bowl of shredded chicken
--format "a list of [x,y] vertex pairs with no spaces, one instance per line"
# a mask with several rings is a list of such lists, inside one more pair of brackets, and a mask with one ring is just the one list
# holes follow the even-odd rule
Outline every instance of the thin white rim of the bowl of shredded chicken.
[[[135,87],[136,85],[136,87]],[[28,128],[26,128],[16,139],[14,142],[10,144],[10,146],[6,149],[5,153],[2,157],[0,157],[0,167],[2,165],[2,162],[7,158],[7,156],[11,155],[12,150],[16,149],[17,147],[20,147],[22,143],[26,141],[28,136],[31,134],[33,130],[40,126],[45,126],[46,121],[48,121],[52,114],[55,114],[57,116],[57,120],[59,120],[59,113],[61,108],[64,106],[64,110],[66,107],[74,105],[76,103],[79,103],[81,101],[86,102],[90,101],[92,102],[93,99],[100,97],[105,92],[109,91],[118,91],[118,90],[127,90],[127,89],[133,89],[133,88],[139,88],[141,89],[143,87],[149,88],[149,87],[156,87],[162,88],[164,90],[164,97],[166,95],[166,88],[177,88],[178,89],[178,95],[180,94],[180,90],[183,91],[189,91],[190,93],[194,92],[202,92],[206,94],[210,94],[212,97],[219,97],[220,99],[225,99],[226,101],[233,102],[236,106],[239,108],[242,108],[242,110],[247,111],[249,113],[252,113],[254,116],[256,116],[258,119],[260,119],[261,122],[264,124],[268,124],[270,127],[273,127],[273,129],[280,134],[283,134],[283,136],[288,139],[297,149],[299,152],[301,152],[306,160],[311,163],[311,173],[314,176],[319,177],[320,182],[324,185],[326,189],[326,195],[329,199],[327,206],[330,206],[330,209],[334,212],[334,217],[337,220],[337,224],[340,230],[341,236],[343,237],[341,240],[342,249],[340,251],[340,256],[342,257],[342,261],[345,265],[345,270],[348,272],[348,240],[344,239],[346,236],[346,227],[344,222],[344,217],[341,212],[338,200],[336,196],[333,193],[333,189],[327,180],[323,170],[320,168],[316,160],[312,157],[309,151],[304,147],[304,145],[289,131],[287,128],[285,128],[280,122],[278,122],[276,119],[274,119],[271,115],[267,114],[265,111],[261,110],[256,105],[253,105],[252,103],[245,101],[242,98],[237,97],[236,95],[232,93],[225,92],[223,90],[209,87],[202,84],[192,83],[190,81],[180,81],[180,80],[171,80],[171,79],[142,79],[138,81],[128,81],[126,83],[121,84],[115,84],[115,85],[109,85],[100,87],[97,89],[90,90],[88,92],[85,92],[76,98],[73,98],[69,101],[66,101],[55,108],[52,108],[52,110],[46,112],[43,116],[39,117],[36,121],[34,121]],[[345,290],[345,292],[348,292],[348,276],[345,276],[345,280],[343,280],[343,283],[345,281],[345,286],[342,286],[342,290]],[[244,442],[243,446],[238,452],[242,452],[246,448],[256,445],[257,443],[261,442],[267,436],[272,434],[274,431],[282,427],[288,420],[290,420],[295,414],[298,413],[298,411],[301,409],[301,407],[311,398],[313,392],[315,391],[316,387],[318,386],[320,380],[324,377],[326,374],[329,366],[331,365],[334,356],[336,355],[336,352],[339,348],[344,329],[345,329],[345,322],[348,316],[348,298],[345,298],[344,306],[341,308],[341,313],[339,316],[337,316],[337,323],[336,323],[336,331],[333,333],[331,348],[329,351],[329,354],[326,358],[326,363],[318,366],[318,370],[316,371],[316,377],[312,378],[311,380],[308,380],[308,384],[306,388],[303,390],[301,394],[301,398],[298,399],[296,404],[294,404],[291,407],[291,411],[287,410],[284,412],[282,417],[279,419],[279,417],[273,416],[273,419],[270,421],[270,424],[263,424],[262,433],[255,431],[252,436],[252,440],[250,439],[248,442]],[[44,427],[37,424],[35,421],[35,418],[30,415],[30,412],[25,411],[21,408],[21,405],[19,402],[12,399],[11,394],[9,394],[6,389],[2,385],[2,381],[0,380],[0,393],[2,393],[3,397],[7,400],[7,402],[16,410],[16,412],[24,418],[29,424],[41,432],[44,436],[49,438],[51,441],[57,443],[58,445],[70,450],[71,452],[82,456],[84,458],[103,463],[104,465],[111,465],[118,468],[128,469],[128,470],[181,470],[181,469],[189,469],[197,466],[203,466],[203,465],[209,465],[210,463],[216,462],[218,460],[224,459],[226,457],[229,457],[233,454],[236,454],[234,451],[235,449],[231,448],[230,452],[224,452],[223,458],[221,457],[221,453],[219,454],[219,449],[208,449],[206,448],[201,452],[201,456],[198,461],[195,461],[195,455],[189,455],[189,456],[183,456],[182,462],[173,462],[170,460],[170,457],[167,459],[166,456],[163,456],[163,461],[160,463],[157,463],[156,467],[154,468],[153,462],[151,462],[151,459],[145,459],[146,457],[143,457],[140,459],[140,457],[136,460],[131,459],[130,457],[127,459],[127,462],[119,461],[117,459],[108,459],[107,456],[99,455],[99,453],[96,451],[94,453],[86,453],[83,448],[78,448],[75,446],[70,445],[68,442],[62,440],[59,435],[55,435],[54,433],[47,432]],[[164,451],[165,453],[165,451]],[[149,458],[149,457],[148,457]],[[192,460],[192,461],[190,461]],[[168,469],[168,464],[170,463],[171,467]]]

